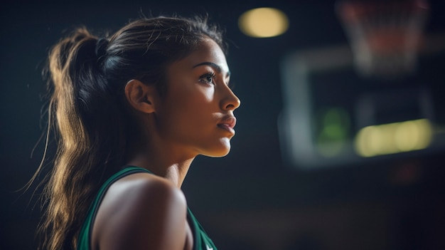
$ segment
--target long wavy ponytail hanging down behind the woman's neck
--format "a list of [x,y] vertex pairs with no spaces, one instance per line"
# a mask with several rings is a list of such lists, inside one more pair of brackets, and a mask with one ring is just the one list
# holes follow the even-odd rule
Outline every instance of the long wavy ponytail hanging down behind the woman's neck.
[[102,179],[116,172],[124,160],[121,131],[126,126],[113,123],[121,120],[124,110],[108,89],[102,70],[106,46],[106,38],[98,40],[80,28],[57,43],[48,56],[53,91],[49,117],[59,137],[44,192],[48,207],[42,229],[50,235],[43,242],[45,249],[75,249],[82,218]]

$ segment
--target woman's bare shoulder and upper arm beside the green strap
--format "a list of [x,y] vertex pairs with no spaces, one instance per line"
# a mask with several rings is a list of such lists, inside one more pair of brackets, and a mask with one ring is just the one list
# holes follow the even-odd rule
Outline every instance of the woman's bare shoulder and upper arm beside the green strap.
[[107,190],[92,249],[183,249],[186,213],[183,192],[173,183],[146,173],[129,175]]

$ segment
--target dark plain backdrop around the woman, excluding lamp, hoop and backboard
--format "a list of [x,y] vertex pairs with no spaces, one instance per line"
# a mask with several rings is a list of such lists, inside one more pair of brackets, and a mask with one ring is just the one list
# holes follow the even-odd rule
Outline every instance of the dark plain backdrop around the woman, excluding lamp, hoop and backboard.
[[[444,3],[430,1],[425,33],[445,32]],[[45,125],[41,70],[48,48],[76,26],[116,31],[140,12],[208,13],[227,29],[227,62],[235,93],[242,100],[235,113],[237,135],[230,155],[198,157],[183,184],[189,207],[218,249],[445,249],[444,150],[313,170],[282,159],[277,126],[283,109],[279,63],[290,51],[348,43],[334,4],[282,0],[2,4],[0,249],[36,249],[33,234],[40,210],[31,199],[33,189],[17,190],[32,177],[43,154],[43,142],[37,142]],[[289,16],[289,31],[275,38],[244,36],[237,28],[238,17],[262,6],[282,9]],[[432,78],[445,84],[441,72],[445,64],[438,62],[437,76],[432,72]]]

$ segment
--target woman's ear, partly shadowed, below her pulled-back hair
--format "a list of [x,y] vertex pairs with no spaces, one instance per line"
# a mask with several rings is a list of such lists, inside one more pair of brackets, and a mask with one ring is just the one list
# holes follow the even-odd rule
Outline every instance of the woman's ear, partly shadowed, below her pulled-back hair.
[[142,113],[154,113],[154,99],[157,91],[154,85],[146,85],[140,80],[129,80],[125,85],[125,97],[129,105]]

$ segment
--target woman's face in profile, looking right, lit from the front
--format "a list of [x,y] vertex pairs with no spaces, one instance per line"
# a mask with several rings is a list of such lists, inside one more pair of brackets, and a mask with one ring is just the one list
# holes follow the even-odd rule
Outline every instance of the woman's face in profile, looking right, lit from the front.
[[166,95],[156,105],[156,127],[164,142],[188,155],[220,157],[235,135],[233,111],[240,100],[230,90],[225,55],[205,38],[197,51],[171,64]]

